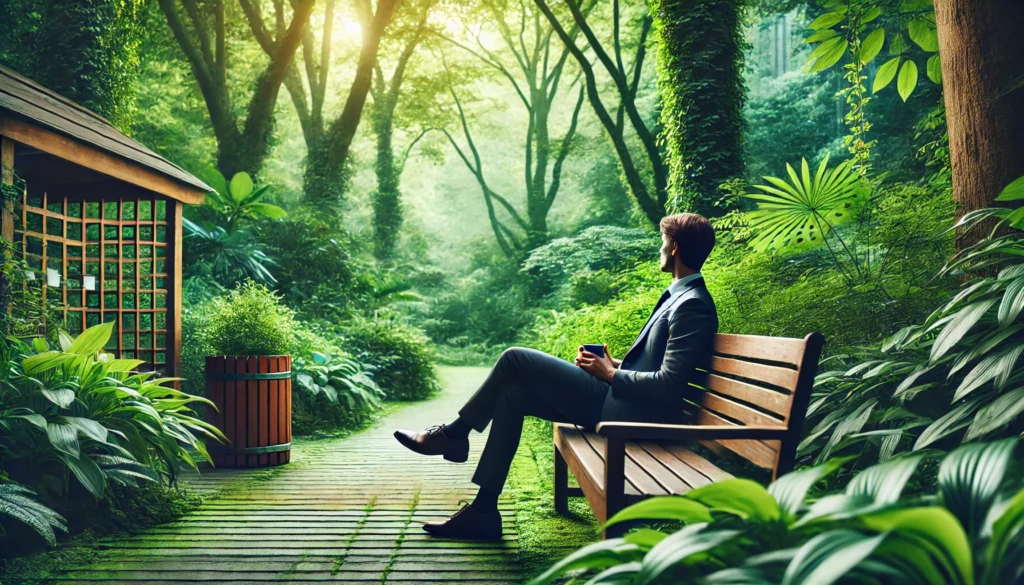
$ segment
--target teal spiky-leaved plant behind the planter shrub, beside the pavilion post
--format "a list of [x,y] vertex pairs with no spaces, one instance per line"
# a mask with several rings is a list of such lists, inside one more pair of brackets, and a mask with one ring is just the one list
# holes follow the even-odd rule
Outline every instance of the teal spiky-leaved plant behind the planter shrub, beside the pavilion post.
[[187,217],[182,217],[181,223],[185,229],[185,242],[188,243],[189,263],[208,264],[211,276],[217,281],[231,282],[243,277],[261,283],[276,282],[267,268],[276,262],[248,231],[227,232],[212,222],[196,222]]

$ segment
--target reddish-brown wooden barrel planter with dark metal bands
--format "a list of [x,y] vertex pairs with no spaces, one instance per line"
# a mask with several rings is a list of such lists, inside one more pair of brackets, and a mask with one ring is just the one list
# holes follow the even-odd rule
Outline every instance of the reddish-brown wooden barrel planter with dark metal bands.
[[282,465],[292,455],[292,357],[208,356],[206,420],[229,443],[207,443],[217,467]]

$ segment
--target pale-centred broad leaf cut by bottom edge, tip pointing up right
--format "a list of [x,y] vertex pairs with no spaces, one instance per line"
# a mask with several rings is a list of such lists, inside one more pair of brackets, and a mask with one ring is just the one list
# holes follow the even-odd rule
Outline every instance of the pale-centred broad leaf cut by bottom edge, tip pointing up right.
[[849,530],[819,534],[797,551],[782,585],[830,585],[867,558],[886,534],[867,536]]

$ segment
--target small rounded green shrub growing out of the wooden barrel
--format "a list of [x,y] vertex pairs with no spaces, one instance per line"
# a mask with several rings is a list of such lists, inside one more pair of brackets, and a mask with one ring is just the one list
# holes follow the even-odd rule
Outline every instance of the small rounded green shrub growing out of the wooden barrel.
[[213,300],[206,327],[218,356],[284,356],[292,348],[297,324],[278,295],[249,281]]

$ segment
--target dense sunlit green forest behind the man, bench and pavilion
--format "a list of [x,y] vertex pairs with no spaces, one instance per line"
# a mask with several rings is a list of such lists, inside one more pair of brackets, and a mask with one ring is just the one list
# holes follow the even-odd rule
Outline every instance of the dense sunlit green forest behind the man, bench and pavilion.
[[[657,220],[695,211],[720,331],[826,339],[800,461],[860,465],[1021,430],[1021,16],[948,4],[2,0],[0,64],[214,187],[189,393],[256,314],[307,433],[512,344],[621,356]],[[24,302],[5,335],[39,332]]]

